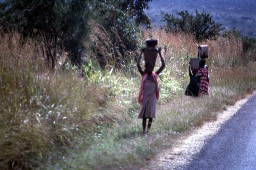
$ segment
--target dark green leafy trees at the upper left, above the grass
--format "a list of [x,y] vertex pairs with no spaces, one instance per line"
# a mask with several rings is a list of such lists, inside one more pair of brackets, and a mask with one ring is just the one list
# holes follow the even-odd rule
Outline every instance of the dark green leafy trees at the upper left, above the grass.
[[[52,69],[55,69],[58,54],[63,50],[68,52],[72,64],[81,67],[86,47],[83,43],[90,42],[90,29],[100,24],[103,36],[110,40],[108,49],[112,50],[112,55],[108,58],[115,60],[116,65],[127,65],[130,61],[127,52],[136,49],[136,26],[145,24],[151,27],[150,19],[143,11],[150,1],[10,0],[0,3],[0,23],[5,33],[16,28],[24,38],[44,42],[41,48]],[[101,59],[104,56],[98,53],[98,46],[94,43],[106,42],[101,35],[96,33],[96,36],[97,42],[91,42],[90,50]],[[102,67],[107,64],[100,62]]]

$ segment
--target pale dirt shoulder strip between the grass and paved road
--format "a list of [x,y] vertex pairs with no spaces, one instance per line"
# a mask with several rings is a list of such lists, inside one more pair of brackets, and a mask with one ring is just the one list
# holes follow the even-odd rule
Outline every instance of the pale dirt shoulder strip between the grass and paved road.
[[256,94],[256,91],[237,101],[235,105],[226,107],[225,111],[218,114],[216,121],[205,122],[202,127],[192,130],[188,136],[180,137],[172,148],[157,154],[141,170],[184,169],[192,160],[193,155],[200,152],[201,148],[204,147],[205,141],[215,135],[221,125],[229,120],[254,94]]

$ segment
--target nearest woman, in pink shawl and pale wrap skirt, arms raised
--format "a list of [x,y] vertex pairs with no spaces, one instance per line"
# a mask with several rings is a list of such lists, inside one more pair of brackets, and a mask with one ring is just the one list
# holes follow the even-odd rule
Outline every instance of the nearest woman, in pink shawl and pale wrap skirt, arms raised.
[[164,58],[161,55],[161,47],[158,48],[158,54],[161,58],[162,66],[156,71],[153,72],[155,63],[146,63],[145,70],[142,71],[140,67],[140,59],[143,50],[140,52],[140,56],[137,61],[137,67],[142,75],[142,81],[140,84],[140,92],[139,92],[139,102],[141,104],[141,111],[138,118],[142,119],[142,128],[143,134],[146,130],[146,123],[148,120],[148,129],[147,133],[151,127],[153,118],[156,118],[156,100],[159,97],[159,88],[158,88],[158,74],[161,73],[164,69],[165,63]]

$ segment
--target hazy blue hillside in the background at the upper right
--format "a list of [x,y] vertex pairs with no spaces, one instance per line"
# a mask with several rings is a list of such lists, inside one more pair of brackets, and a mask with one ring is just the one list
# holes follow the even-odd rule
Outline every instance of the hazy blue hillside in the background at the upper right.
[[221,23],[226,31],[236,27],[242,35],[256,37],[255,0],[153,0],[146,14],[151,18],[152,25],[157,27],[165,24],[160,21],[160,16],[156,16],[161,12],[172,14],[187,10],[195,14],[196,9],[199,13],[210,13],[212,19]]

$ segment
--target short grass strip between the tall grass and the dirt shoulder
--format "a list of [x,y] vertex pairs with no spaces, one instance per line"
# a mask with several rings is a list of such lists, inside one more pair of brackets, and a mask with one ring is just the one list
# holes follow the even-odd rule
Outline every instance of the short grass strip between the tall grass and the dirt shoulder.
[[169,103],[159,105],[157,119],[153,122],[150,135],[142,135],[141,120],[136,118],[119,123],[115,128],[109,129],[109,133],[102,136],[99,143],[90,149],[73,153],[72,157],[66,159],[65,166],[62,164],[60,167],[139,169],[157,152],[170,147],[172,140],[178,135],[202,125],[204,121],[214,120],[220,110],[234,104],[256,88],[255,63],[239,71],[235,69],[222,71],[227,79],[222,79],[222,74],[216,73],[212,76],[209,97],[179,96]]

